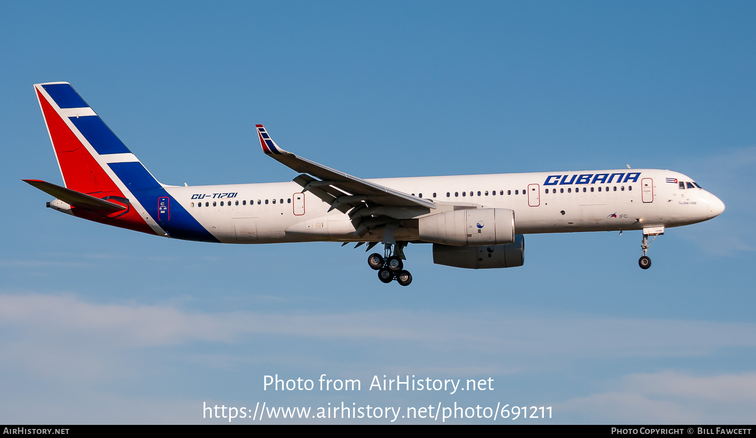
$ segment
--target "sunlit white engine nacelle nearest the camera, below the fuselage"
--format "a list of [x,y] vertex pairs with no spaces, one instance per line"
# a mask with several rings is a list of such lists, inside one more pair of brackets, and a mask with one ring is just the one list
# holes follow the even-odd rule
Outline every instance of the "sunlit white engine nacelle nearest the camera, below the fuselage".
[[515,240],[515,212],[469,208],[420,217],[420,239],[442,245],[504,245]]

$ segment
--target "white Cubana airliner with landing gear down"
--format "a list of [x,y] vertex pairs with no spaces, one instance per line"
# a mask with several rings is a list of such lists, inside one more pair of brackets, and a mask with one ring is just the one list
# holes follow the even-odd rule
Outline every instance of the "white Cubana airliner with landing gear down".
[[[646,168],[363,179],[283,150],[263,125],[263,152],[289,182],[160,183],[68,82],[34,85],[64,185],[23,180],[47,206],[114,227],[197,242],[383,244],[367,263],[381,282],[409,285],[408,243],[435,264],[520,267],[525,234],[642,230],[639,266],[666,228],[708,221],[724,203],[691,177]],[[649,241],[649,237],[651,240]]]

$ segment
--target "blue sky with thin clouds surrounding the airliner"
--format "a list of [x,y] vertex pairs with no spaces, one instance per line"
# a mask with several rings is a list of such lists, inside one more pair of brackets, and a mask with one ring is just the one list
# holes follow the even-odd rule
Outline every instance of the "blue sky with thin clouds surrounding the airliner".
[[[5,5],[0,421],[203,423],[203,402],[343,401],[753,423],[754,17],[752,2]],[[20,179],[60,183],[32,88],[51,81],[166,184],[290,180],[250,134],[264,123],[361,177],[630,164],[688,174],[727,210],[656,239],[648,271],[638,233],[569,233],[526,236],[525,266],[507,270],[411,245],[413,284],[386,286],[351,246],[181,242],[45,209]],[[496,386],[263,391],[275,373]]]

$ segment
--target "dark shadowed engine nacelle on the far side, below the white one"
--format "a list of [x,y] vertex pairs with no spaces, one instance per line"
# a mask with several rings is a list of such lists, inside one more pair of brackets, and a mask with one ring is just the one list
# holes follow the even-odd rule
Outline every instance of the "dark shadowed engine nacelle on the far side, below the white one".
[[466,269],[518,267],[525,263],[525,236],[508,245],[450,246],[433,244],[433,263]]

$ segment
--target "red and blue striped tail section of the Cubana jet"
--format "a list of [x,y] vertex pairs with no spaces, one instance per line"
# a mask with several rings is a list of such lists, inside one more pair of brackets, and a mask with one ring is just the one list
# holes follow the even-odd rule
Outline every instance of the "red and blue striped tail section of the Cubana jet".
[[[57,196],[52,208],[142,233],[218,242],[181,205],[174,205],[170,215],[160,214],[160,199],[170,197],[169,186],[144,168],[69,83],[49,82],[34,88],[65,187],[26,182]],[[70,192],[61,196],[60,189]],[[125,211],[95,208],[91,199],[84,202],[72,192],[121,205]]]

